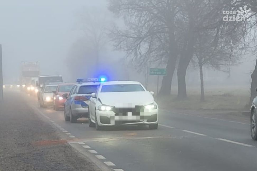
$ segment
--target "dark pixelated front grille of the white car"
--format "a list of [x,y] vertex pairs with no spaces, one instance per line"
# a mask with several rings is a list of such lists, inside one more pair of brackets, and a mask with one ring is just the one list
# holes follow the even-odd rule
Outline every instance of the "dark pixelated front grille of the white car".
[[144,112],[144,106],[135,106],[135,108],[114,108],[115,116],[128,116],[128,112],[132,116],[140,116],[140,112]]

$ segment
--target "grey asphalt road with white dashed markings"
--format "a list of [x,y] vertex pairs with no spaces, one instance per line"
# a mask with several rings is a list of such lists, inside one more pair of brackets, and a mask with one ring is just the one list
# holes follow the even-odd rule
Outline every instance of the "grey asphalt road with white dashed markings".
[[[63,111],[42,109],[25,95],[32,108],[51,123],[63,139],[102,169],[115,171],[257,169],[257,141],[250,138],[247,118],[175,113],[160,110],[160,126],[96,131],[86,119],[64,121]],[[105,167],[106,166],[106,167]]]

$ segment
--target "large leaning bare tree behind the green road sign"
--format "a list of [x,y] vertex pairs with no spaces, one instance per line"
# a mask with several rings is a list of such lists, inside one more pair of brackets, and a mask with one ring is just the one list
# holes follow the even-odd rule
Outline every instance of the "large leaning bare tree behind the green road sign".
[[138,66],[146,62],[167,64],[167,76],[163,77],[161,95],[170,94],[171,81],[178,56],[176,37],[176,1],[172,0],[110,0],[109,9],[122,16],[126,28],[115,27],[111,39],[118,50],[136,61]]

